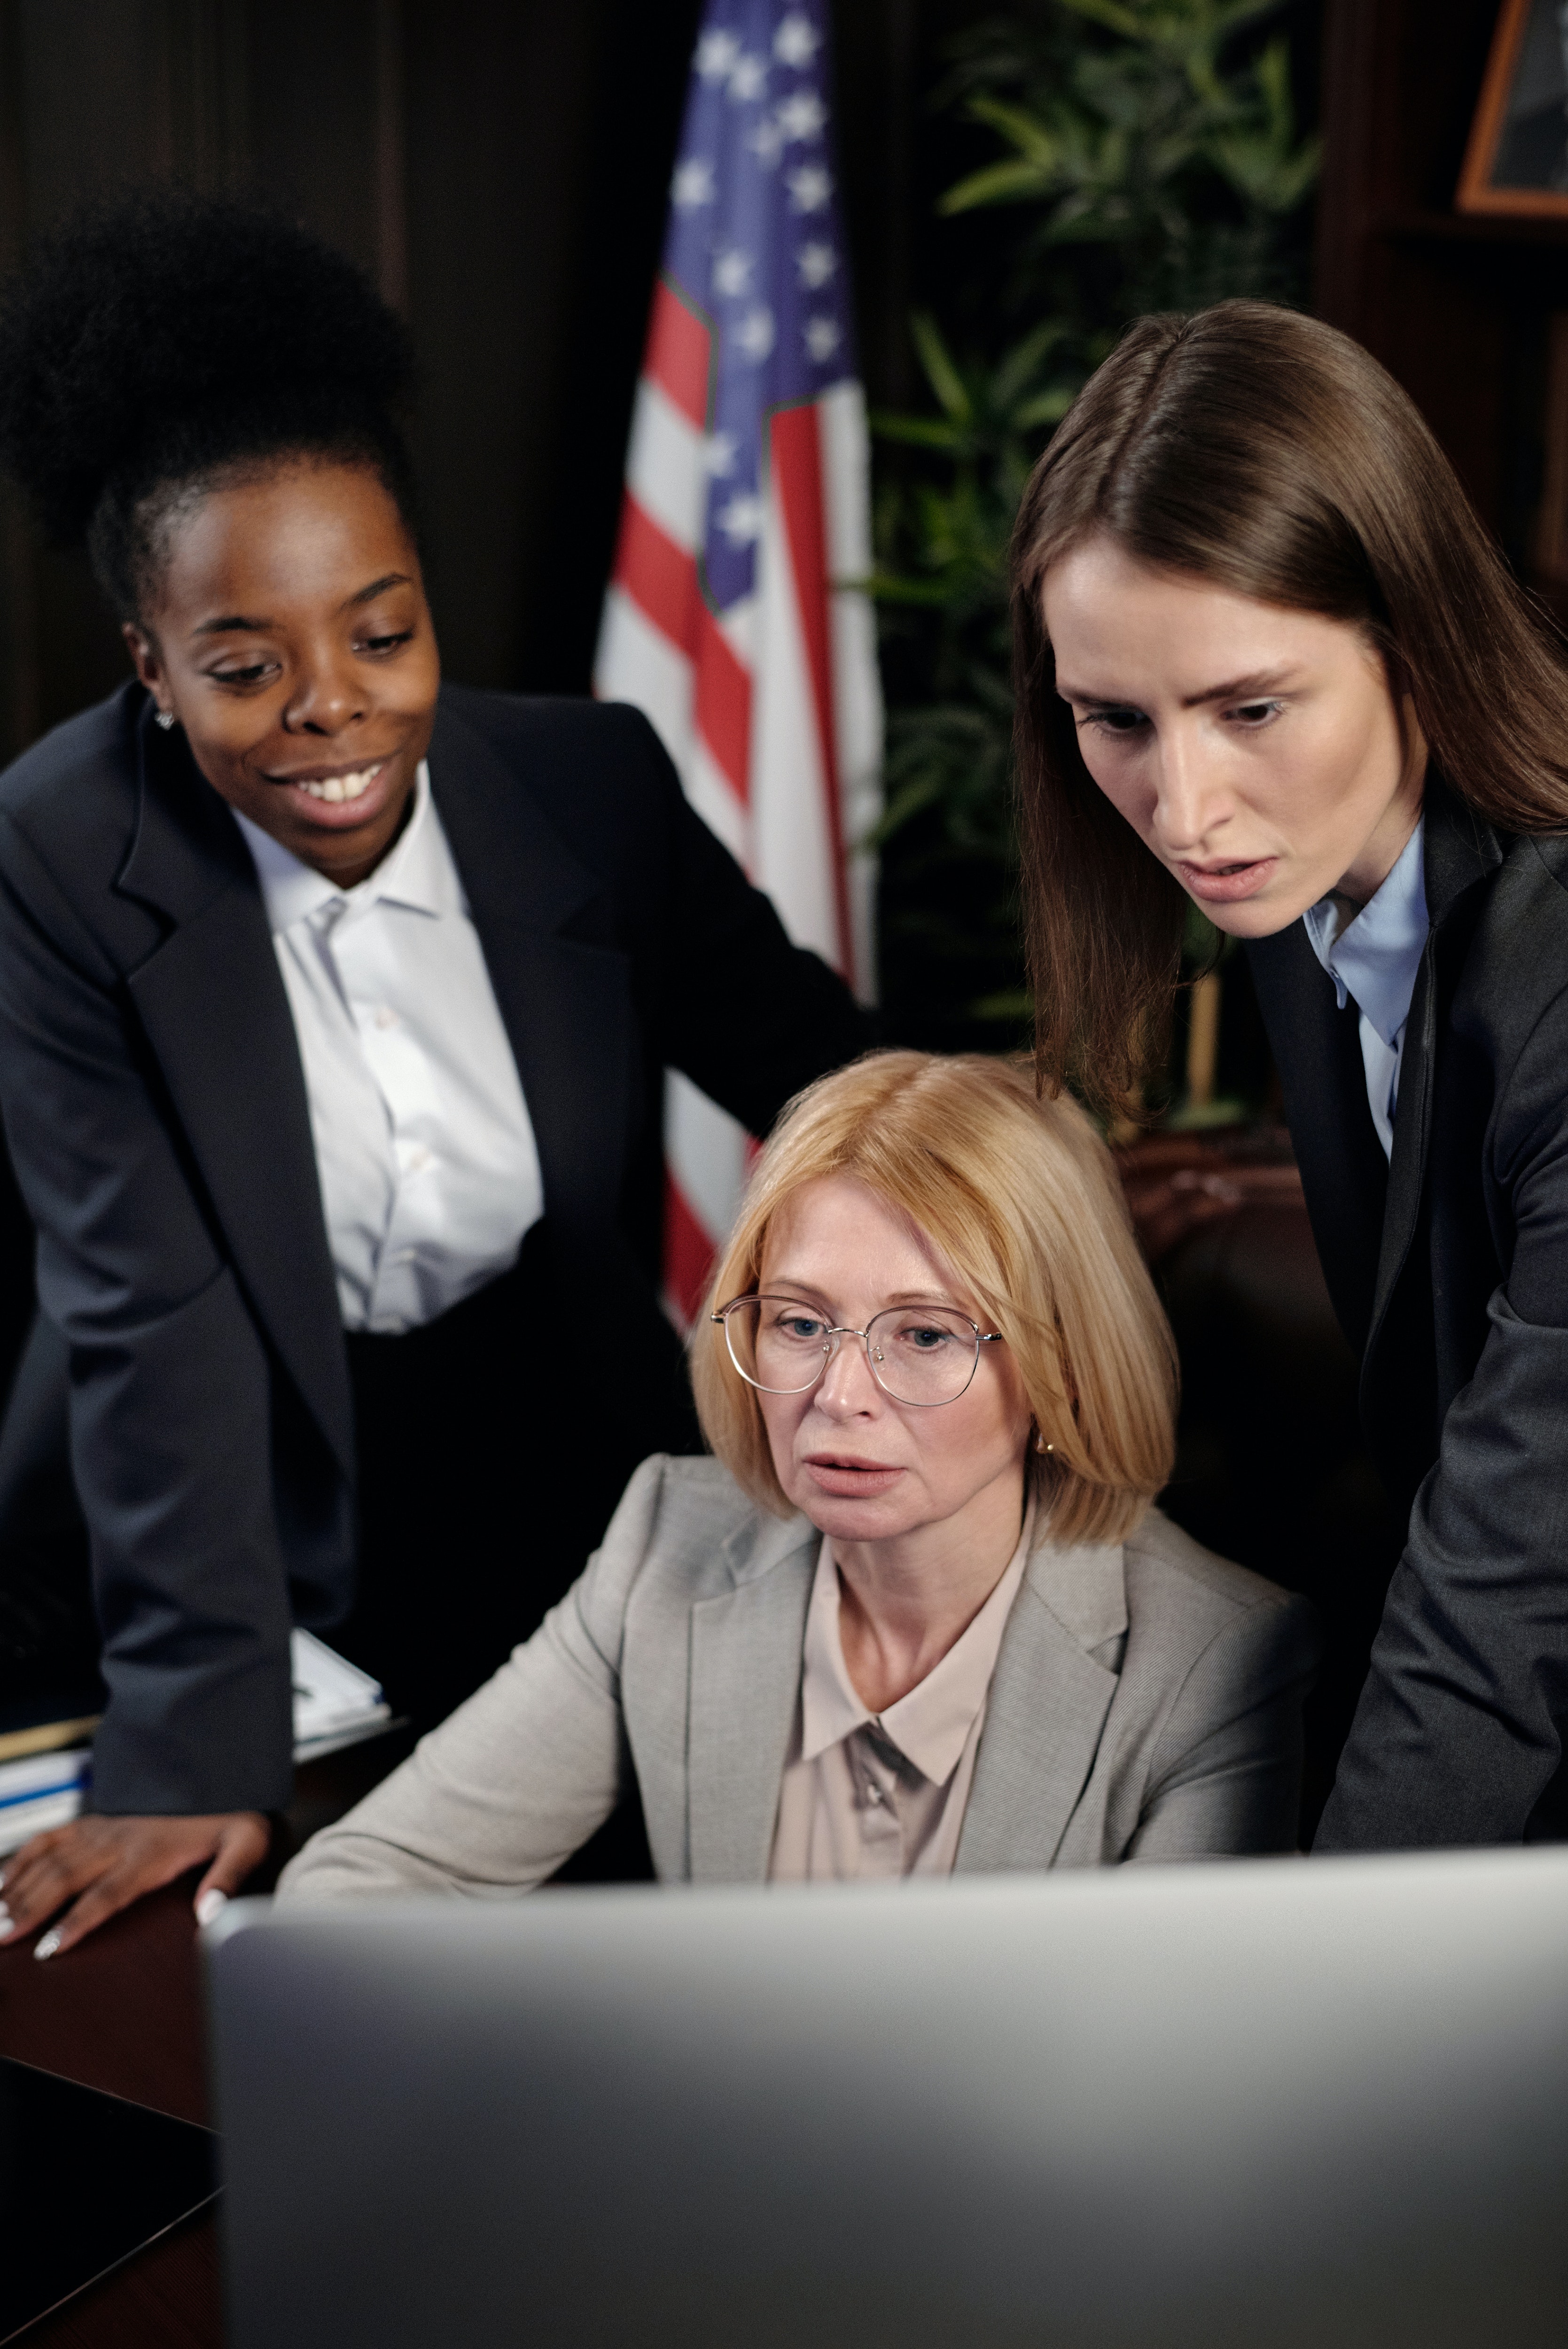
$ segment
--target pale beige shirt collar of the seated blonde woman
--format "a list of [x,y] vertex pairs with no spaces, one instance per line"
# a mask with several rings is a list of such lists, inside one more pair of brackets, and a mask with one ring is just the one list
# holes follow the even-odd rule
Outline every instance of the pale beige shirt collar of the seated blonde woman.
[[931,1785],[947,1785],[964,1743],[990,1694],[1001,1651],[1001,1633],[1011,1614],[1034,1536],[1034,1503],[1025,1510],[1023,1534],[1006,1574],[973,1623],[952,1642],[940,1663],[900,1696],[886,1712],[870,1712],[856,1696],[844,1668],[839,1642],[839,1569],[832,1541],[823,1536],[806,1607],[806,1644],[802,1656],[802,1762],[816,1762],[856,1729],[875,1724],[914,1764]]

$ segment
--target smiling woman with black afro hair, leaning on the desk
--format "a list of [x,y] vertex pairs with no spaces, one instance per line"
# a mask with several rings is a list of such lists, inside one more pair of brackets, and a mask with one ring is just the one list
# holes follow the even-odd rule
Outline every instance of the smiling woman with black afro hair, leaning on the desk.
[[661,1071],[762,1135],[867,1043],[646,719],[440,681],[409,376],[228,202],[89,214],[0,305],[0,463],[134,667],[0,775],[0,1555],[68,1461],[108,1691],[92,1813],[0,1886],[49,1954],[261,1860],[294,1623],[428,1727],[696,1449]]

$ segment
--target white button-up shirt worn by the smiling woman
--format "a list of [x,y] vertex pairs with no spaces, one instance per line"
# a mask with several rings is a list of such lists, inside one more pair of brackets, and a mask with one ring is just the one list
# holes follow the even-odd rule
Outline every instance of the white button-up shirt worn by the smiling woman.
[[343,890],[244,815],[306,1071],[346,1330],[400,1334],[517,1261],[534,1125],[421,761],[414,813]]

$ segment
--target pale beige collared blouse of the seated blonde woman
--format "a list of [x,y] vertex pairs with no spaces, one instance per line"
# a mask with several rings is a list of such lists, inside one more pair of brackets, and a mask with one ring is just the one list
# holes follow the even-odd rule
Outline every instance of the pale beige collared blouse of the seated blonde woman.
[[844,1668],[839,1569],[823,1536],[769,1882],[952,1875],[992,1672],[1032,1534],[1030,1506],[1018,1548],[985,1607],[940,1663],[882,1715],[867,1712]]

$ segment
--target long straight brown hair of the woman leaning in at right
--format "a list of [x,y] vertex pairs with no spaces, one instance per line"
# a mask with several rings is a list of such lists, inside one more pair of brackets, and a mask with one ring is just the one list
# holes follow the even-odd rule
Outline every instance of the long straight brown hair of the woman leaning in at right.
[[1568,827],[1563,651],[1406,392],[1272,303],[1143,317],[1030,474],[1013,531],[1016,759],[1037,1069],[1133,1111],[1168,1043],[1187,895],[1095,789],[1056,693],[1046,568],[1143,564],[1361,627],[1443,780],[1505,832]]

